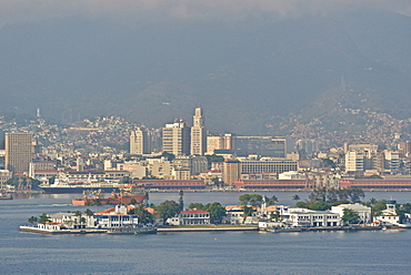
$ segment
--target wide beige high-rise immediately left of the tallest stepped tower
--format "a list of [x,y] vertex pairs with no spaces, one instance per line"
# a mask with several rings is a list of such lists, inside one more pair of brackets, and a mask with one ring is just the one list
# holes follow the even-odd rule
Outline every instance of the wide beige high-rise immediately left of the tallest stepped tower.
[[182,120],[162,129],[162,151],[176,156],[190,154],[190,130]]

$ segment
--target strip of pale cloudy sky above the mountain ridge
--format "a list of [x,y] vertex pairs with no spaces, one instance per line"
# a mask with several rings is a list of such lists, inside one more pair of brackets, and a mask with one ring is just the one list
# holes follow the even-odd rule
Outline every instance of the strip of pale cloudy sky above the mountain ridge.
[[223,19],[383,9],[411,16],[410,0],[1,0],[0,24],[83,16],[119,20]]

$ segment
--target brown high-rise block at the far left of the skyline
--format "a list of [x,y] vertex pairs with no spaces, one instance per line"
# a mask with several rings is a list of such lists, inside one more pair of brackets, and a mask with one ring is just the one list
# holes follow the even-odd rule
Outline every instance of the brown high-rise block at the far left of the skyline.
[[6,167],[14,173],[29,172],[33,157],[33,136],[30,132],[6,133]]

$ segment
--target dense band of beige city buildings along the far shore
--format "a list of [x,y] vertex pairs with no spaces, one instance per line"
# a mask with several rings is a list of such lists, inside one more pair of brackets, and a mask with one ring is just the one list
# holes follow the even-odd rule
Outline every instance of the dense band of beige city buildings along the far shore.
[[[21,129],[13,125],[10,131],[3,128],[0,183],[20,176],[42,184],[54,179],[133,181],[159,190],[411,189],[409,141],[397,147],[345,143],[320,149],[312,139],[212,135],[200,106],[191,126],[179,119],[161,131],[116,118],[87,120],[60,133],[41,118],[37,123]],[[58,150],[59,141],[70,146]],[[129,149],[108,149],[116,141],[129,143]],[[100,151],[84,150],[99,144]]]

